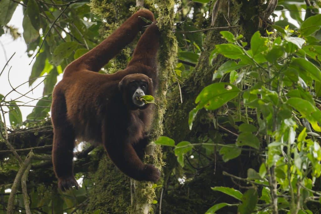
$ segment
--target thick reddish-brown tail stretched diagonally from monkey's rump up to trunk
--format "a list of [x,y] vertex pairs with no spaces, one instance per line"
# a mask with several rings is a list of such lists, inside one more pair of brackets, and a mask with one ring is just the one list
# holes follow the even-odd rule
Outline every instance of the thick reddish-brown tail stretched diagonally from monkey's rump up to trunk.
[[64,76],[79,70],[98,72],[102,66],[116,56],[128,45],[143,26],[147,25],[141,17],[154,21],[154,15],[149,10],[140,10],[128,18],[115,32],[88,53],[70,63],[64,71]]

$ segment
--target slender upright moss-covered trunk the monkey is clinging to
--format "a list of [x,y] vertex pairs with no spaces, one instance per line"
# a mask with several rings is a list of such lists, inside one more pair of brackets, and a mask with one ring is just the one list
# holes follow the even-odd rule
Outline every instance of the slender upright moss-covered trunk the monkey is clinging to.
[[[173,33],[174,27],[174,0],[155,0],[158,8],[158,27],[161,33],[159,49],[159,88],[157,90],[157,108],[152,124],[152,140],[156,140],[163,133],[163,118],[166,107],[166,92],[170,72],[173,71],[176,62],[177,41]],[[156,167],[161,168],[162,152],[160,146],[150,145],[150,152],[147,152],[146,160]],[[159,181],[161,183],[162,181]],[[136,182],[136,192],[131,214],[147,214],[151,209],[152,201],[156,199],[155,188],[151,182]]]

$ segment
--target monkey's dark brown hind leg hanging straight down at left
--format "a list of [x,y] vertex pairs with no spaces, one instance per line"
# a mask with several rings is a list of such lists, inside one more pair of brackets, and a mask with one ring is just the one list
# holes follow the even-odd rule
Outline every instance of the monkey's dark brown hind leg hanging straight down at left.
[[51,105],[51,120],[54,127],[52,163],[58,178],[58,187],[62,191],[73,186],[78,189],[79,186],[73,173],[74,127],[68,122],[66,113],[64,95],[55,93]]

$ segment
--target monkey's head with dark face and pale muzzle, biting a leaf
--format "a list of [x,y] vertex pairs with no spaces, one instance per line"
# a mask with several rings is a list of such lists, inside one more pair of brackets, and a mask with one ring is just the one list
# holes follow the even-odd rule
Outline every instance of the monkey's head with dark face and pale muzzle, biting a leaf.
[[144,95],[153,95],[151,78],[141,73],[129,74],[119,82],[118,87],[122,93],[124,103],[130,110],[148,107],[149,104],[145,104],[138,98]]

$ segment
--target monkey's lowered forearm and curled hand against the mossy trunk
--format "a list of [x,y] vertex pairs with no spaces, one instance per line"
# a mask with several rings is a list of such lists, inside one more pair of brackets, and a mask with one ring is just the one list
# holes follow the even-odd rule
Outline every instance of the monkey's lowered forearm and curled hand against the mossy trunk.
[[159,180],[160,171],[152,164],[144,164],[132,144],[117,142],[106,145],[105,143],[105,148],[114,164],[129,177],[138,181],[157,182]]

